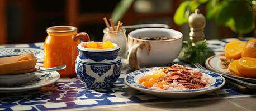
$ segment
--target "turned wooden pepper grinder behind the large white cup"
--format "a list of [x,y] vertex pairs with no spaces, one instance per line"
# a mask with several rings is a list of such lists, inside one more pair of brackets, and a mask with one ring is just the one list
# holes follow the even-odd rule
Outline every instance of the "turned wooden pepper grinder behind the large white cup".
[[195,13],[192,13],[188,17],[188,24],[190,27],[189,39],[192,45],[195,45],[197,41],[201,41],[205,38],[205,34],[203,33],[203,28],[205,28],[206,25],[205,16],[200,13],[199,9],[196,9]]

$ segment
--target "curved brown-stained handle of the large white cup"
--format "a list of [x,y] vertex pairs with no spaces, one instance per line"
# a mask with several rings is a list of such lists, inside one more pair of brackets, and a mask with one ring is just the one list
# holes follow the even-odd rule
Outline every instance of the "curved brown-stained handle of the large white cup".
[[128,53],[128,63],[129,63],[129,67],[131,69],[135,69],[135,70],[138,70],[140,69],[140,64],[137,60],[137,51],[138,51],[138,48],[143,48],[143,43],[138,43],[138,44],[135,44],[134,46],[131,47],[129,53]]

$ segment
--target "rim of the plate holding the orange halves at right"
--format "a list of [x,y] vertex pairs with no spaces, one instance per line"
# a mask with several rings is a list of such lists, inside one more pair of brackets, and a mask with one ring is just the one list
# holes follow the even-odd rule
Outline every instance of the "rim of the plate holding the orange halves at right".
[[[215,72],[219,72],[219,73],[224,74],[224,75],[228,75],[228,76],[230,76],[230,77],[239,78],[239,79],[243,79],[243,80],[254,80],[254,81],[256,80],[256,78],[246,78],[246,77],[239,77],[239,76],[237,76],[237,75],[230,75],[230,74],[225,73],[225,70],[224,70],[224,69],[218,70],[218,69],[214,68],[214,67],[210,64],[210,62],[211,62],[212,59],[214,59],[214,58],[219,58],[219,57],[224,57],[224,56],[223,56],[223,54],[219,54],[219,55],[214,55],[214,56],[211,56],[211,57],[207,58],[206,61],[205,61],[205,66],[206,66],[208,69],[211,69],[211,70],[213,70],[213,71],[215,71]],[[221,65],[221,64],[217,64],[217,63],[219,63],[219,62],[214,62],[214,63],[216,63],[216,65]]]

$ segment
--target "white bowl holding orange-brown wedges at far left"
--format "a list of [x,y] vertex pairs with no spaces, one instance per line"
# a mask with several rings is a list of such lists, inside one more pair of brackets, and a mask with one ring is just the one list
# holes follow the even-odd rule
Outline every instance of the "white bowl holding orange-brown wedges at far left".
[[[0,50],[1,51],[1,50]],[[33,53],[13,56],[13,53],[4,50],[0,54],[0,86],[14,86],[23,84],[34,77],[27,74],[39,70],[37,58]],[[4,55],[5,54],[5,55]]]

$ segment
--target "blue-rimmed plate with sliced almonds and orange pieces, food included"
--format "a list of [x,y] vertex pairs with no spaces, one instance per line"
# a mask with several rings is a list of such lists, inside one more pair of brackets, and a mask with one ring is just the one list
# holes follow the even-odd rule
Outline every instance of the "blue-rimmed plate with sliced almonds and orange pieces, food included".
[[136,70],[125,77],[125,83],[157,97],[189,98],[221,88],[225,78],[208,70],[175,64]]

